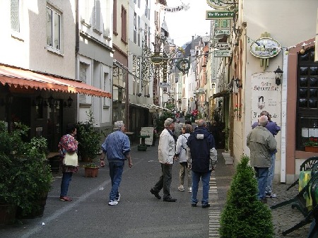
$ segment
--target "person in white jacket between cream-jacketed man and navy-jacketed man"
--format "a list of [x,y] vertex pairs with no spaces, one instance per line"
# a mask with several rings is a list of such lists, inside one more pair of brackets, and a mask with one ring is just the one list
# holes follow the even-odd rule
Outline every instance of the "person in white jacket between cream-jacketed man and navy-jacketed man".
[[188,180],[188,192],[192,192],[192,176],[191,176],[191,168],[187,163],[187,141],[192,132],[191,125],[182,126],[182,135],[178,137],[177,145],[175,149],[175,158],[179,159],[180,169],[179,169],[179,191],[184,191],[184,177],[187,173]]

